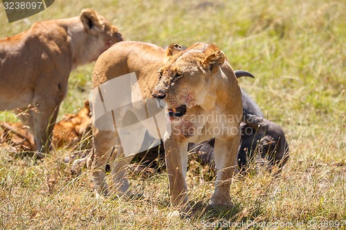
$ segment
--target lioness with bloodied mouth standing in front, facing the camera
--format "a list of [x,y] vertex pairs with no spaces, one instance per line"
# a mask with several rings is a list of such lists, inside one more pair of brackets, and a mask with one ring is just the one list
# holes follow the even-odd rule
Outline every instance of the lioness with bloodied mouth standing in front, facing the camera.
[[[133,72],[144,99],[153,96],[165,99],[167,103],[167,122],[172,126],[172,133],[166,132],[163,141],[171,203],[178,206],[188,202],[185,182],[188,142],[203,142],[215,137],[217,179],[210,204],[230,204],[230,178],[235,170],[243,110],[242,93],[224,52],[215,45],[203,43],[186,50],[172,44],[164,50],[153,44],[123,41],[102,53],[96,61],[93,88],[100,91],[104,82]],[[100,104],[93,104],[93,108],[100,106],[102,108]],[[140,110],[138,104],[134,107]],[[139,114],[143,113],[136,116]],[[138,119],[143,120],[143,117]],[[93,130],[96,197],[109,192],[105,180],[107,162],[111,164],[114,189],[118,193],[129,189],[124,166],[133,155],[125,157],[129,154],[123,152],[116,126],[112,122],[109,125],[114,125],[113,131],[97,127]]]

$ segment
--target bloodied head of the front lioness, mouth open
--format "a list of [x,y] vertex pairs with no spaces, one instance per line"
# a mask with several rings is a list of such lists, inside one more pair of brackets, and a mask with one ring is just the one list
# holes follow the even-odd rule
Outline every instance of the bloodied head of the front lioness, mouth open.
[[224,52],[212,44],[197,43],[186,50],[172,44],[152,96],[165,98],[170,116],[181,117],[192,106],[203,104],[224,60]]

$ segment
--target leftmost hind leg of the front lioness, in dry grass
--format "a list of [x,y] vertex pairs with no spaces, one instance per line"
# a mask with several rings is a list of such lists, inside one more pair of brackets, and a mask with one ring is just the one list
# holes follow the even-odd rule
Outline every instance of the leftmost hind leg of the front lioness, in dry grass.
[[116,132],[98,131],[94,132],[93,139],[93,190],[96,198],[100,195],[108,195],[106,182],[106,164],[114,153],[113,146],[116,144]]

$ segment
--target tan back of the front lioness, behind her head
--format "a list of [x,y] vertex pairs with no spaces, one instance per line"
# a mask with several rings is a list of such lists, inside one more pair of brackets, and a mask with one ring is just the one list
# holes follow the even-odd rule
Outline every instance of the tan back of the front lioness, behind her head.
[[[143,97],[151,97],[165,50],[140,41],[121,41],[100,55],[93,70],[93,88],[109,79],[136,73]],[[138,78],[138,76],[142,76]]]

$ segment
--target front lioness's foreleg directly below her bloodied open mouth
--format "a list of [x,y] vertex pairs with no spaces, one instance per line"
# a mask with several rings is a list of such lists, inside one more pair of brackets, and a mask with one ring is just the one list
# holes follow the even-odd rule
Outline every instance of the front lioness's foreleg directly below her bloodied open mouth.
[[185,180],[188,168],[188,142],[177,143],[174,137],[163,142],[170,183],[170,200],[174,206],[188,203],[188,187]]

